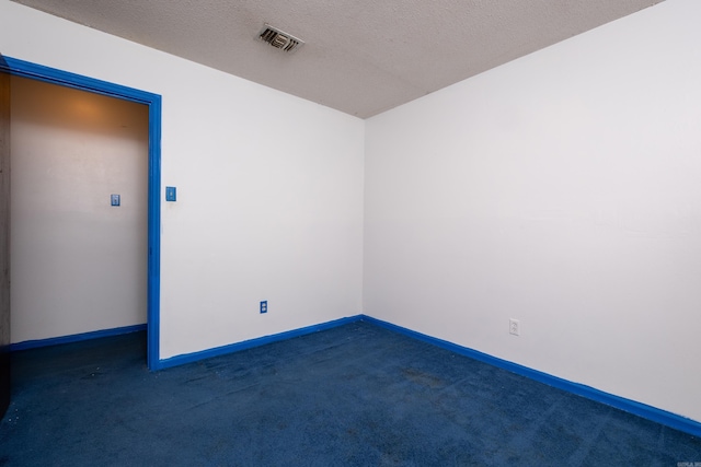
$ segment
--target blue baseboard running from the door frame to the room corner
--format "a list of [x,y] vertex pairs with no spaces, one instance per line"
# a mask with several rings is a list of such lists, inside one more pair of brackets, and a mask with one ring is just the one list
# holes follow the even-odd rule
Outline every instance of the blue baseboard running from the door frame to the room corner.
[[258,337],[256,339],[244,340],[243,342],[230,343],[228,346],[216,347],[214,349],[202,350],[199,352],[185,353],[182,355],[171,357],[159,362],[159,369],[169,369],[172,366],[183,365],[185,363],[193,363],[204,359],[210,359],[212,357],[225,355],[227,353],[239,352],[241,350],[251,349],[253,347],[265,346],[266,343],[278,342],[280,340],[291,339],[294,337],[304,336],[312,332],[319,332],[321,330],[331,329],[334,327],[343,326],[349,323],[356,323],[363,319],[363,315],[349,316],[347,318],[335,319],[333,322],[321,323],[313,326],[308,326],[299,329],[292,329],[285,332],[275,334],[272,336]]

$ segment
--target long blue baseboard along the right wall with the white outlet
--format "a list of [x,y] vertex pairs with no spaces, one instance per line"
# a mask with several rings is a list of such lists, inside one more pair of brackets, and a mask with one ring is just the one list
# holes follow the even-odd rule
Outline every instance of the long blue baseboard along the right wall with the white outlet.
[[647,420],[664,424],[675,430],[683,431],[685,433],[692,434],[694,436],[701,436],[701,423],[688,419],[686,417],[678,416],[676,413],[668,412],[666,410],[657,409],[655,407],[636,402],[624,397],[614,396],[609,393],[596,389],[590,386],[585,386],[579,383],[573,383],[567,380],[553,376],[548,373],[539,372],[537,370],[529,369],[517,363],[513,363],[506,360],[498,359],[496,357],[489,355],[486,353],[479,352],[476,350],[469,349],[467,347],[458,346],[457,343],[449,342],[447,340],[438,339],[427,336],[425,334],[417,332],[415,330],[406,329],[401,326],[393,325],[391,323],[383,322],[381,319],[372,318],[370,316],[361,315],[361,320],[370,323],[379,327],[383,327],[389,330],[409,336],[411,338],[432,343],[434,346],[441,347],[451,352],[479,360],[481,362],[507,370],[512,373],[526,376],[530,380],[539,383],[547,384],[559,389],[566,390],[568,393],[576,394],[578,396],[586,397],[587,399],[595,400],[597,402],[606,404],[607,406],[614,407],[617,409],[633,413]]

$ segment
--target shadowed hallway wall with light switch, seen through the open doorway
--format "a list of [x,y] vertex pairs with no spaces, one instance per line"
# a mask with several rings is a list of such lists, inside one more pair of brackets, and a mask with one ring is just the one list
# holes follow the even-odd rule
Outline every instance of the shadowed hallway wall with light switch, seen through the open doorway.
[[11,121],[12,341],[146,323],[148,107],[13,77]]

